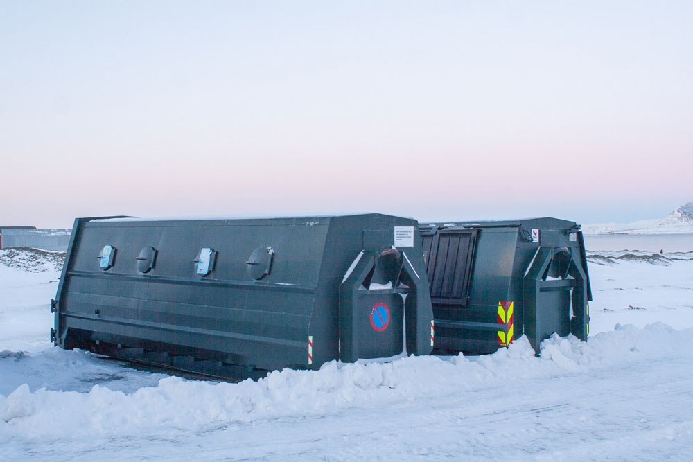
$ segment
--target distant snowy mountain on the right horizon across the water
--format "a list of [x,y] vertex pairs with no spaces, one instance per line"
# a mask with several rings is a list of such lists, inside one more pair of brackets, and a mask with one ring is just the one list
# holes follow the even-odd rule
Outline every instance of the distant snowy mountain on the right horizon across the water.
[[582,226],[585,234],[665,234],[693,233],[693,202],[676,208],[664,218],[617,224],[597,223]]

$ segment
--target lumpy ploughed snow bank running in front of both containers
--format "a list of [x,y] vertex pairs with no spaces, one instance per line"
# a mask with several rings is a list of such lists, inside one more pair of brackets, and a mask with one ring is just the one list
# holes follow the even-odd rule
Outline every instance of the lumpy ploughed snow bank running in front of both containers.
[[[274,371],[258,382],[200,382],[168,377],[156,387],[134,393],[98,385],[88,393],[31,391],[27,384],[9,396],[0,395],[0,443],[6,438],[78,438],[85,434],[128,435],[201,431],[232,422],[281,416],[338,412],[403,400],[435,398],[493,387],[509,381],[585,374],[624,362],[683,355],[693,329],[673,330],[663,323],[638,329],[617,326],[590,337],[554,335],[534,356],[525,337],[493,355],[405,357],[380,363],[329,362],[319,371]],[[4,360],[13,360],[11,355]]]

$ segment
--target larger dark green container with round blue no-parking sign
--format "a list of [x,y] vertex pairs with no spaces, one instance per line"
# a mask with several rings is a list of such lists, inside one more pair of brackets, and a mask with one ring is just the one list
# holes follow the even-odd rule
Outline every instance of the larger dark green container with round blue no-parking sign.
[[52,340],[219,377],[433,346],[416,220],[76,220]]

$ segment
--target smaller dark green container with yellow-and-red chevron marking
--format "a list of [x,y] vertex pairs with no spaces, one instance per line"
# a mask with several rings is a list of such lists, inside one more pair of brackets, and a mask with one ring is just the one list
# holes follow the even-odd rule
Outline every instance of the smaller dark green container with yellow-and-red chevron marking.
[[491,353],[527,335],[585,340],[592,300],[580,226],[556,218],[421,226],[441,353]]

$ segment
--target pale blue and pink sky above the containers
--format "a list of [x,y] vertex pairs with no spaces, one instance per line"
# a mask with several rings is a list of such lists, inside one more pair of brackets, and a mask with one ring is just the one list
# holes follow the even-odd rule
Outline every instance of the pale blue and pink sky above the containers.
[[0,0],[0,224],[628,222],[693,200],[690,1]]

